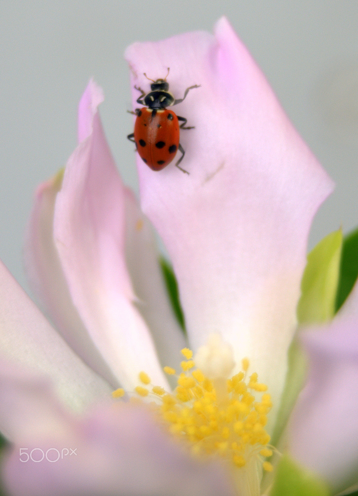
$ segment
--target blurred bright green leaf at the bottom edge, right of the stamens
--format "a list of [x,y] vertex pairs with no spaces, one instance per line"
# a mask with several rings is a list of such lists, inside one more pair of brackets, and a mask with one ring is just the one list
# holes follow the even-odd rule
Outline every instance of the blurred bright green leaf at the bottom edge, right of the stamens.
[[277,467],[270,496],[328,496],[328,486],[284,455]]

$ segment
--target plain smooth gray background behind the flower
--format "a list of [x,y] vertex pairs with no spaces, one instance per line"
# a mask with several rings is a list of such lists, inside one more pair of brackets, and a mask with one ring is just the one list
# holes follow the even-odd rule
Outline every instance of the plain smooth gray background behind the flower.
[[222,14],[336,182],[310,246],[358,225],[358,1],[16,1],[0,4],[0,258],[27,289],[22,240],[35,187],[76,146],[78,100],[93,76],[124,181],[137,190],[124,48],[212,31]]

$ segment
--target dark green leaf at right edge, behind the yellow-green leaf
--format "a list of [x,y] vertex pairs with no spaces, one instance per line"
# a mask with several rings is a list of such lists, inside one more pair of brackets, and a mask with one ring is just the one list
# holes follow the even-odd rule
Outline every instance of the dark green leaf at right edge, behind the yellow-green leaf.
[[358,229],[343,241],[340,277],[336,299],[338,311],[350,294],[358,276]]

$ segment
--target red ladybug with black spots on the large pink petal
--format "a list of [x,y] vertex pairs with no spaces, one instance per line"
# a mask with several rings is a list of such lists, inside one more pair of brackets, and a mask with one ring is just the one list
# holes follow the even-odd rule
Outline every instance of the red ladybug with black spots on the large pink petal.
[[[199,88],[200,85],[194,84],[194,86],[189,86],[186,88],[184,96],[176,100],[172,93],[168,91],[168,74],[169,67],[165,79],[154,81],[144,73],[147,79],[153,81],[150,85],[151,91],[148,94],[141,88],[134,86],[136,90],[141,92],[137,103],[146,105],[146,107],[135,109],[135,112],[130,112],[136,115],[137,118],[134,124],[134,132],[128,134],[127,138],[135,143],[140,158],[153,171],[161,171],[164,167],[167,167],[179,150],[182,155],[176,166],[180,171],[189,174],[179,167],[185,153],[179,143],[179,128],[193,129],[194,126],[185,126],[187,120],[184,117],[177,116],[173,111],[168,110],[167,107],[181,103],[189,90]],[[182,121],[180,126],[179,121]]]

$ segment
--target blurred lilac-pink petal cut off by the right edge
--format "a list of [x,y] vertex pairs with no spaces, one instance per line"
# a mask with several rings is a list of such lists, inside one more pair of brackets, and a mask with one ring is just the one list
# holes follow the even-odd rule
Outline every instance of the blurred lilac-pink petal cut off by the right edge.
[[290,424],[290,449],[336,491],[358,482],[358,286],[333,322],[301,337],[307,385]]

